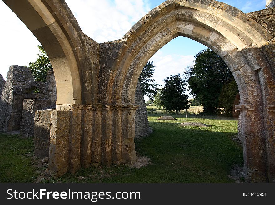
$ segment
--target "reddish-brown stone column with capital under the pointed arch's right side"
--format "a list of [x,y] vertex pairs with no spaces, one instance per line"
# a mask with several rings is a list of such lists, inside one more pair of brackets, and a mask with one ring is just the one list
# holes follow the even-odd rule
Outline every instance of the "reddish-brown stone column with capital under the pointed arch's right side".
[[236,105],[242,123],[244,168],[242,175],[247,183],[268,182],[267,156],[262,116],[254,105]]

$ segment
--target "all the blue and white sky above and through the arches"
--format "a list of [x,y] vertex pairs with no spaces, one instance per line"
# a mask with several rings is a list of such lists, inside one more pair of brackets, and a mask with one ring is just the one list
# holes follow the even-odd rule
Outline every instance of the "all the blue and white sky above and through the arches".
[[[113,41],[123,35],[147,12],[161,4],[160,0],[65,0],[76,17],[83,32],[98,43]],[[224,0],[242,12],[258,11],[265,8],[265,0]],[[10,65],[28,65],[37,58],[40,43],[18,19],[18,17],[0,1],[0,74],[6,79]],[[186,66],[192,64],[194,56],[206,46],[188,39],[177,37],[163,46],[150,61],[154,61],[153,78],[159,84],[163,79],[177,73],[183,73]],[[146,97],[146,100],[148,98]]]

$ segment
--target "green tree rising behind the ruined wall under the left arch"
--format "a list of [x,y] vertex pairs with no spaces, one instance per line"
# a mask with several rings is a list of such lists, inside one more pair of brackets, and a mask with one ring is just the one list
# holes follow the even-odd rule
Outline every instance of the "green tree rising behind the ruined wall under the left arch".
[[39,45],[38,48],[40,51],[40,53],[37,54],[38,58],[35,62],[30,62],[28,67],[31,69],[36,81],[46,82],[47,72],[53,69],[53,67],[44,48]]

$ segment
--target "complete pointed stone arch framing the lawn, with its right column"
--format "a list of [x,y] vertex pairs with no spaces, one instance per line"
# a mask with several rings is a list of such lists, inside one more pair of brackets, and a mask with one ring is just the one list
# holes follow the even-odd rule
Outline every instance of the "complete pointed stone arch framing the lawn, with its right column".
[[113,89],[107,91],[103,102],[134,103],[144,65],[178,36],[209,47],[230,68],[241,97],[237,108],[241,111],[245,139],[244,175],[247,181],[274,181],[274,145],[268,145],[274,140],[274,124],[268,123],[274,119],[274,100],[270,98],[275,92],[274,72],[273,62],[265,53],[273,36],[234,7],[217,1],[168,0],[154,8],[122,39],[111,42],[117,46],[113,49],[117,55],[107,60],[113,66],[105,86]]

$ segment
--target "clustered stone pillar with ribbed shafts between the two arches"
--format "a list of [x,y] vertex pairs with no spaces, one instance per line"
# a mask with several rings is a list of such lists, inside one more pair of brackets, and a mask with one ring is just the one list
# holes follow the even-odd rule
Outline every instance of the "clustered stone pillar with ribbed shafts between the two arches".
[[57,177],[80,167],[133,164],[136,109],[136,104],[57,105],[46,173]]

